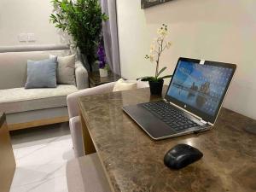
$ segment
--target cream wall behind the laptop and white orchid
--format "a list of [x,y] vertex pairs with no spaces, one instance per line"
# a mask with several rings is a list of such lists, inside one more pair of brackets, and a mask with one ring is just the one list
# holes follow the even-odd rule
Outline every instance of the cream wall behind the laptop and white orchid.
[[173,43],[160,61],[166,73],[179,56],[236,63],[224,106],[256,119],[256,1],[173,0],[150,9],[141,9],[140,1],[117,1],[122,75],[154,75],[144,55],[156,29],[166,23]]

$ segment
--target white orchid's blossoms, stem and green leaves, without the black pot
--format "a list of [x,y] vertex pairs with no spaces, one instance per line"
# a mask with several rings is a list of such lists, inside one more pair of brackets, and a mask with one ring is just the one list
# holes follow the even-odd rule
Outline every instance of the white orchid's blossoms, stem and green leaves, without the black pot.
[[145,55],[145,59],[156,64],[155,74],[154,76],[139,78],[139,79],[142,79],[142,81],[160,82],[163,79],[172,77],[172,75],[166,75],[166,76],[160,77],[160,74],[163,73],[167,67],[163,67],[159,69],[160,55],[163,53],[165,49],[169,49],[172,45],[171,42],[166,41],[166,37],[169,34],[166,24],[163,24],[162,26],[160,26],[160,28],[157,30],[157,34],[158,34],[158,38],[155,38],[153,43],[150,46],[150,54]]

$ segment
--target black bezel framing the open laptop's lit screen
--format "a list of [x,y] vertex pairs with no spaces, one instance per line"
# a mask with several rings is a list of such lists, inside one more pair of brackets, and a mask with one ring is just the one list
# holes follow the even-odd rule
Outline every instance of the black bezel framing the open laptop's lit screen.
[[[234,73],[236,72],[236,65],[235,64],[230,64],[230,63],[224,63],[224,62],[217,62],[217,61],[203,61],[204,64],[201,64],[201,60],[197,60],[197,59],[189,59],[189,58],[184,58],[184,57],[180,57],[177,61],[177,64],[180,62],[180,61],[188,61],[188,62],[194,62],[194,63],[197,63],[197,64],[200,64],[200,65],[211,65],[211,66],[216,66],[216,67],[227,67],[227,68],[231,68],[232,69],[232,74],[230,75],[230,79],[228,81],[228,84],[224,90],[224,94],[223,96],[221,97],[219,104],[218,104],[218,108],[216,110],[216,112],[214,113],[214,115],[209,115],[205,112],[202,112],[201,110],[197,109],[197,108],[193,108],[192,106],[188,105],[187,103],[185,102],[180,102],[178,101],[177,99],[175,99],[174,97],[172,96],[168,96],[167,93],[170,89],[170,86],[172,84],[172,80],[173,78],[171,79],[171,82],[168,86],[168,90],[166,91],[166,96],[165,96],[165,99],[168,101],[168,102],[172,102],[173,104],[177,105],[178,107],[180,108],[183,108],[184,110],[187,110],[189,111],[190,113],[194,113],[196,116],[199,116],[201,117],[201,119],[203,119],[204,121],[206,122],[210,122],[212,124],[214,124],[217,116],[218,116],[218,111],[219,109],[221,108],[222,106],[222,103],[224,101],[224,96],[226,95],[227,93],[227,90],[229,89],[230,87],[230,82],[234,76]],[[173,72],[173,76],[174,74],[176,73],[176,70],[177,70],[177,65],[175,67],[175,70]],[[173,77],[172,76],[172,77]]]

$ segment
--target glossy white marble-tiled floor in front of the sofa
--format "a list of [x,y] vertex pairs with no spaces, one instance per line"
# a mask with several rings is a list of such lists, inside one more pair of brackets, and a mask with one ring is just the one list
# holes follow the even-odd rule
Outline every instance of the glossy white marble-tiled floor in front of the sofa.
[[67,123],[11,134],[16,171],[10,192],[67,192],[66,163],[73,159]]

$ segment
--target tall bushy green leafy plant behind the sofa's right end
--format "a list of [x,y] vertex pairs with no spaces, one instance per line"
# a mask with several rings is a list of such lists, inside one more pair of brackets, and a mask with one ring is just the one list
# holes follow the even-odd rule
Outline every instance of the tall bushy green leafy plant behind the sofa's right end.
[[108,16],[102,13],[98,0],[51,2],[55,13],[50,15],[50,22],[73,38],[73,44],[89,62],[87,69],[92,71],[91,65],[96,61],[96,46],[101,40],[102,21],[108,20]]

